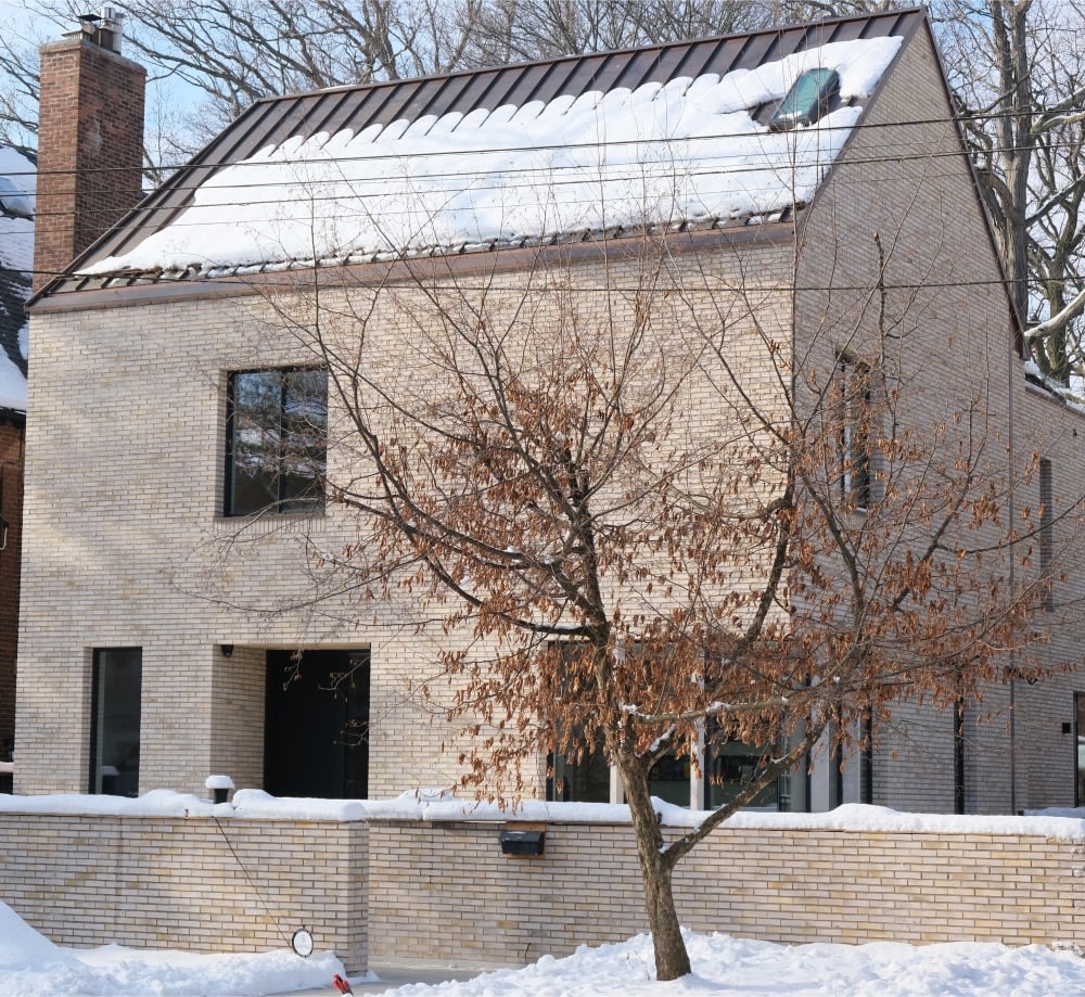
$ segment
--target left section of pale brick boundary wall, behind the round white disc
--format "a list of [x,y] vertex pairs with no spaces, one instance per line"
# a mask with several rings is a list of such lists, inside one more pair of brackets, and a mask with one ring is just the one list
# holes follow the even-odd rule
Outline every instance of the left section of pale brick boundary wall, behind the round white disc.
[[0,899],[60,945],[259,951],[304,925],[365,971],[367,826],[220,825],[0,814]]

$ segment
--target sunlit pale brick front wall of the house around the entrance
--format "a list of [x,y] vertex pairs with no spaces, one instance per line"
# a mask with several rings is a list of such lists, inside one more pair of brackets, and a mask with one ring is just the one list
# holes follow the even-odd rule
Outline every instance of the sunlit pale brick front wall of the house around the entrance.
[[[739,259],[722,245],[717,240],[691,268],[689,298],[705,321],[728,322],[736,367],[757,370],[773,358],[755,332],[750,298],[756,297],[756,328],[784,337],[789,246],[751,243]],[[488,285],[490,297],[510,289],[505,299],[511,311],[523,299],[523,264],[510,267],[506,259],[476,261],[478,272],[446,277],[434,293],[451,306],[463,304],[459,283]],[[637,253],[614,253],[610,261],[559,260],[537,280],[588,289],[576,292],[585,322],[629,329],[631,296],[608,295],[605,289],[636,282],[643,265]],[[418,356],[405,357],[404,336],[412,311],[432,309],[432,303],[410,274],[388,285],[379,271],[363,269],[346,286],[326,290],[324,321],[339,322],[343,336],[356,336],[357,325],[337,317],[356,314],[374,287],[381,302],[368,322],[370,362],[390,379],[424,384]],[[463,741],[441,717],[439,705],[455,692],[441,677],[441,653],[455,642],[478,655],[486,649],[465,630],[449,635],[439,623],[417,626],[410,597],[396,592],[358,601],[331,577],[331,595],[314,602],[322,578],[312,554],[340,551],[357,539],[358,521],[349,510],[221,516],[228,374],[311,362],[297,329],[283,329],[284,318],[309,315],[309,303],[302,292],[271,297],[257,287],[247,296],[203,297],[205,290],[188,285],[179,301],[107,312],[50,314],[47,302],[33,317],[16,792],[86,790],[90,661],[94,648],[108,647],[143,652],[140,792],[197,792],[218,771],[239,787],[261,787],[264,655],[270,648],[298,647],[371,651],[371,795],[456,783]],[[549,301],[540,296],[535,307],[542,311]],[[766,391],[774,383],[754,373],[750,381]],[[79,406],[71,405],[73,397]],[[329,472],[346,478],[361,457],[336,429],[344,417],[334,401]],[[710,433],[722,432],[731,418],[711,394],[694,397],[691,408]],[[352,464],[356,459],[359,464]],[[56,468],[66,473],[58,475]],[[224,643],[233,646],[230,657],[221,653]],[[436,702],[427,706],[409,683],[417,689],[433,676]],[[527,792],[541,793],[544,777],[541,766],[529,774]]]

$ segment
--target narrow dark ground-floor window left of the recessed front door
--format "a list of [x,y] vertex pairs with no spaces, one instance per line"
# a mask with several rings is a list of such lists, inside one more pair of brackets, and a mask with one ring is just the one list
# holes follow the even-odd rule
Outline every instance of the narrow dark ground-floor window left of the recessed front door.
[[139,648],[94,651],[90,719],[90,792],[139,795]]

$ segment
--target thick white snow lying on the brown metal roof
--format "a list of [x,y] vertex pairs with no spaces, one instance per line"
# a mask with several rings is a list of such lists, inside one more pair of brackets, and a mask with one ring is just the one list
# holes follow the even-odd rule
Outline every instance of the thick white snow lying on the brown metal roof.
[[[213,174],[174,221],[81,272],[206,273],[776,217],[814,194],[863,113],[854,102],[902,41],[289,139]],[[840,75],[838,110],[791,131],[754,120],[819,66]]]

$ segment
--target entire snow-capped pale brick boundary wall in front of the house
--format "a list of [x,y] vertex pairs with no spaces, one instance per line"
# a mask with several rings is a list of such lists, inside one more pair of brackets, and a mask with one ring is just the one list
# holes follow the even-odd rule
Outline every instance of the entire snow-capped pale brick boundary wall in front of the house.
[[[56,813],[62,797],[2,800],[0,899],[76,946],[259,950],[304,924],[350,972],[370,954],[522,964],[647,928],[624,808],[564,805],[539,820],[532,804],[480,819],[456,816],[464,801],[449,798],[347,805],[241,791],[233,807],[169,795],[189,816],[148,813],[167,802],[155,794],[102,800],[114,813],[99,814]],[[257,804],[265,814],[245,814]],[[374,813],[331,816],[345,806]],[[860,810],[864,827],[828,826],[848,811],[864,823]],[[842,808],[806,827],[804,815],[750,814],[717,829],[676,871],[684,923],[793,943],[1085,945],[1085,841],[1067,830],[1080,820],[896,815],[912,827],[891,828],[892,811],[878,813]],[[681,833],[664,816],[665,833]],[[503,854],[500,832],[525,822],[545,830],[544,854]]]

